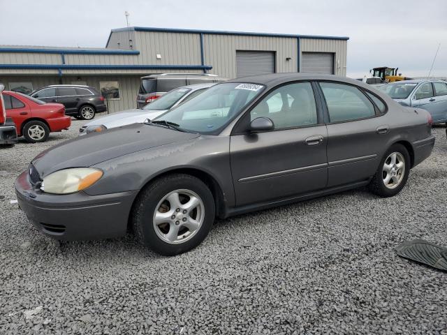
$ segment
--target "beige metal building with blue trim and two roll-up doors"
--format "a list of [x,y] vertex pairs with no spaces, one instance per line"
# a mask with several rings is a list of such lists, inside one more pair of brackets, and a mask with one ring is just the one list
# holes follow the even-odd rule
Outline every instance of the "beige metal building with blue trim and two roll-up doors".
[[234,78],[280,72],[346,75],[348,37],[129,27],[105,48],[0,46],[0,82],[29,91],[50,84],[117,85],[115,112],[136,106],[149,73],[213,73]]

